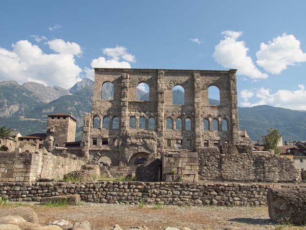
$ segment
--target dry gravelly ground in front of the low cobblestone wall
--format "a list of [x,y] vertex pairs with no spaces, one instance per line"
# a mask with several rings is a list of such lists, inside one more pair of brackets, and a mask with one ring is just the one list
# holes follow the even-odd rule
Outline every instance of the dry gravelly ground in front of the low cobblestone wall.
[[[110,229],[115,224],[121,228],[145,225],[151,230],[164,230],[166,227],[188,227],[192,230],[223,230],[229,227],[233,230],[238,228],[245,230],[306,230],[306,227],[272,223],[267,207],[145,206],[140,208],[128,205],[90,203],[76,207],[26,206],[31,207],[38,214],[40,224],[61,219],[72,223],[87,219],[93,223],[95,230]],[[11,207],[16,207],[16,205],[1,206],[0,216],[5,214],[5,209]]]

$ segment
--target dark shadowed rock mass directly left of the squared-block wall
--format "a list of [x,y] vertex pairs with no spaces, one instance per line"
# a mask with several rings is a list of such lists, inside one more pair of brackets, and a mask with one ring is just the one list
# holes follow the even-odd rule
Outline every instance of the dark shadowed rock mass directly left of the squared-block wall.
[[160,181],[161,160],[159,158],[148,159],[144,164],[136,168],[136,181],[156,182]]

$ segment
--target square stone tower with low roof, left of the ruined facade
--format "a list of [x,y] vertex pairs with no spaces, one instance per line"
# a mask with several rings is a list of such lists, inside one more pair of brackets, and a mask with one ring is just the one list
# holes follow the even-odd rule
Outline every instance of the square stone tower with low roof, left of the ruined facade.
[[52,114],[48,115],[47,139],[54,138],[56,147],[64,147],[65,142],[75,141],[76,120],[72,114]]

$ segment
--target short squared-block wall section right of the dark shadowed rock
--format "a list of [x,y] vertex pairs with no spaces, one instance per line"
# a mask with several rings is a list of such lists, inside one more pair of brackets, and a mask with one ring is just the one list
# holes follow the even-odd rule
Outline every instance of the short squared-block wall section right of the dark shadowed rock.
[[179,153],[163,154],[163,181],[198,182],[198,159],[196,152],[181,150]]

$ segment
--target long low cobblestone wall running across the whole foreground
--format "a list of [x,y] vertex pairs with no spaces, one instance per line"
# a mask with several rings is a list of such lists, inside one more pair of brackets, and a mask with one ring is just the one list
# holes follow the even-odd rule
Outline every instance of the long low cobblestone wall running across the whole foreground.
[[37,182],[0,183],[0,195],[10,201],[40,201],[43,197],[79,194],[85,202],[110,204],[266,206],[271,187],[305,187],[306,184],[238,184],[182,182]]

